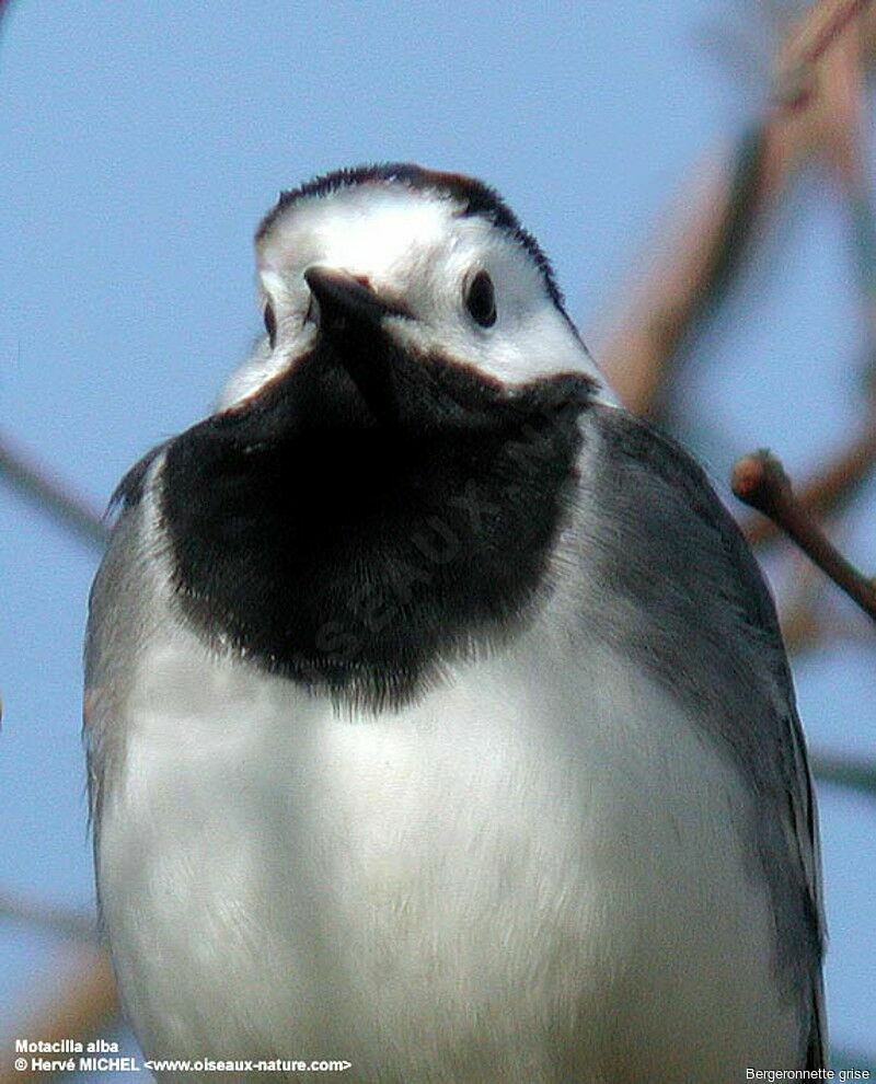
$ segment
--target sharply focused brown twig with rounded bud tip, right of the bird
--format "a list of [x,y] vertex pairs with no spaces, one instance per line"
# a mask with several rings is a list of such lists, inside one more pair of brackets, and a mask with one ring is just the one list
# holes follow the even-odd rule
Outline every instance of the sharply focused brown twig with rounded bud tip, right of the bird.
[[742,457],[733,469],[731,486],[740,500],[768,516],[876,621],[876,587],[873,580],[843,557],[797,500],[781,462],[774,455],[768,451],[757,451]]

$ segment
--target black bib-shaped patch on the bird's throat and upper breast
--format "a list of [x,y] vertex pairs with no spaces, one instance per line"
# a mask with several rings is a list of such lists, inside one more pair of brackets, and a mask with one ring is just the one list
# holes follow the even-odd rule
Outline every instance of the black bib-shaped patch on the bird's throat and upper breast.
[[578,374],[508,392],[380,348],[385,417],[321,339],[252,402],[177,437],[161,483],[198,633],[371,707],[526,620],[592,394]]

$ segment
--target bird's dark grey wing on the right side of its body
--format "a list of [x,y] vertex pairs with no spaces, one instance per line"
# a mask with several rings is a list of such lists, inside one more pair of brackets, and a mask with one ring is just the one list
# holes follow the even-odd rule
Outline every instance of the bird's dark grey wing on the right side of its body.
[[[585,620],[679,697],[747,780],[756,800],[752,847],[775,912],[780,978],[789,996],[802,997],[805,1029],[808,1018],[807,1068],[826,1068],[817,814],[769,589],[705,473],[646,423],[595,405],[580,474],[578,545],[588,554],[590,581],[611,585],[601,597],[598,589],[587,592]],[[606,607],[609,589],[630,604]],[[776,854],[786,861],[776,862]]]

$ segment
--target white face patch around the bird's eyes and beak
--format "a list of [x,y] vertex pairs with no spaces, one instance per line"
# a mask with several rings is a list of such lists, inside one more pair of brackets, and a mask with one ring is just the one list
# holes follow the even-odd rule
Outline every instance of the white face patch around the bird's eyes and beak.
[[[509,384],[583,372],[596,381],[598,400],[616,405],[532,254],[509,230],[462,210],[440,188],[396,181],[303,196],[280,211],[256,245],[260,295],[273,310],[276,342],[260,344],[234,373],[220,407],[249,399],[312,347],[318,328],[307,319],[311,295],[303,275],[314,265],[367,279],[378,296],[402,302],[413,319],[385,322],[402,347],[452,358]],[[489,327],[465,304],[479,272],[495,291]]]

